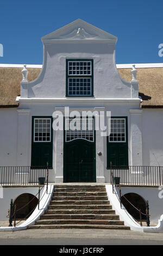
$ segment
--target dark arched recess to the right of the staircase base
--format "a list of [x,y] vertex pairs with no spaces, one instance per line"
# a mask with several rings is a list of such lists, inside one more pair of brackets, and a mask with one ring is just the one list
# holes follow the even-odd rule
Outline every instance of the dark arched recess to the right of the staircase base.
[[[124,198],[125,197],[125,198]],[[137,211],[134,206],[137,209],[141,209],[141,212],[143,214],[146,214],[146,200],[141,197],[139,194],[136,193],[127,193],[122,196],[122,204],[126,208],[126,210],[129,212],[131,216],[135,218],[135,220],[139,221],[140,220],[140,213]],[[132,206],[133,204],[134,206]],[[146,216],[142,214],[142,220],[146,220]]]

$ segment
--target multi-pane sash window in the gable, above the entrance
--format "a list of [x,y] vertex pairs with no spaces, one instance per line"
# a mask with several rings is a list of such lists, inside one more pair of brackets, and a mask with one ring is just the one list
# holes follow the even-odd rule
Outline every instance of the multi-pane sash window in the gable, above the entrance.
[[93,60],[67,60],[67,96],[93,95]]

